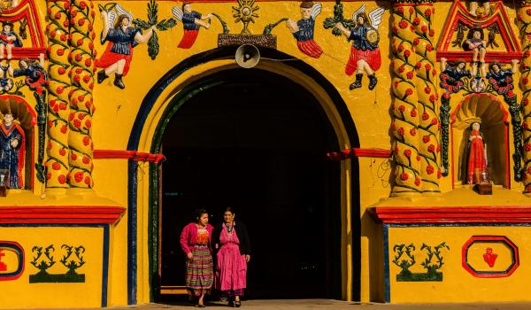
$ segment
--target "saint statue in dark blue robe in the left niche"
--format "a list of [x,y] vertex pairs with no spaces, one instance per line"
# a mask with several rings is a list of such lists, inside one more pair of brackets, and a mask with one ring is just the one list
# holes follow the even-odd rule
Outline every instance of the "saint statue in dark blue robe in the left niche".
[[9,187],[20,189],[26,143],[24,130],[13,120],[13,114],[7,112],[0,124],[0,169],[9,170]]

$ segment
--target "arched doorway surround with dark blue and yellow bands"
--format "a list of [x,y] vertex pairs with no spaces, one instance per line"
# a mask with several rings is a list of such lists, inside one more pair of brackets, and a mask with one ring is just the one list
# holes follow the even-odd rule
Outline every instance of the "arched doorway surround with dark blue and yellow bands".
[[[221,48],[195,55],[180,65],[175,66],[165,77],[158,81],[144,98],[140,111],[135,120],[135,126],[128,143],[128,150],[149,151],[157,153],[160,150],[160,139],[164,133],[167,120],[186,101],[198,91],[208,86],[197,88],[197,81],[223,70],[235,68],[233,60],[223,60],[234,55],[235,48]],[[289,64],[271,59],[289,59],[287,54],[277,50],[261,50],[267,60],[258,64],[257,68],[282,75],[307,89],[316,97],[325,112],[328,121],[334,128],[340,149],[358,147],[356,128],[337,89],[330,84],[317,70],[304,62],[290,62]],[[210,81],[212,83],[212,81]],[[173,102],[173,105],[171,103]],[[358,160],[343,161],[340,168],[341,176],[341,296],[343,299],[358,299],[360,294],[360,218],[359,200],[353,196],[358,191]],[[128,298],[129,304],[135,304],[139,299],[153,300],[158,291],[158,178],[159,168],[150,165],[149,178],[142,178],[139,182],[137,167],[134,162],[129,163],[129,207],[128,207]],[[144,189],[144,190],[140,190]],[[147,211],[149,209],[149,211]],[[142,214],[149,214],[148,218],[141,218]],[[145,215],[143,215],[145,216]],[[142,223],[148,223],[147,236],[142,236],[139,229]],[[140,235],[140,236],[139,236]],[[136,244],[134,240],[149,240],[148,244]],[[149,269],[138,269],[136,261],[138,255],[142,260],[150,261]],[[140,287],[139,287],[140,286]],[[141,290],[142,288],[142,290]],[[150,291],[150,298],[146,295],[138,298],[140,291]]]

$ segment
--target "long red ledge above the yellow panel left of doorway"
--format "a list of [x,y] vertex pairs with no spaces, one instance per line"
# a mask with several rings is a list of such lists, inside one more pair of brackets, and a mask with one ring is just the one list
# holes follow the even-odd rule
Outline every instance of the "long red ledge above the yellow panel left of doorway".
[[0,223],[116,224],[126,212],[121,206],[45,205],[0,206]]

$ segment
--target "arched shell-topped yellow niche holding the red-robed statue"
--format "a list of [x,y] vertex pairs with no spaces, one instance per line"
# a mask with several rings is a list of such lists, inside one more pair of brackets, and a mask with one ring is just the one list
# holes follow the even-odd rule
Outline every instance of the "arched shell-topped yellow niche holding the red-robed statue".
[[510,186],[507,112],[496,98],[473,94],[452,113],[453,162],[458,184]]

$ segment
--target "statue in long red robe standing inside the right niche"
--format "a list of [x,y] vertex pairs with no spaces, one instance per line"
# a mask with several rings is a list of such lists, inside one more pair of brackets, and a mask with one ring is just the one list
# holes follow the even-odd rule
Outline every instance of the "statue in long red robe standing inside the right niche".
[[471,126],[470,136],[466,143],[466,183],[489,184],[489,171],[487,161],[487,149],[483,134],[480,131],[480,123],[474,121]]

